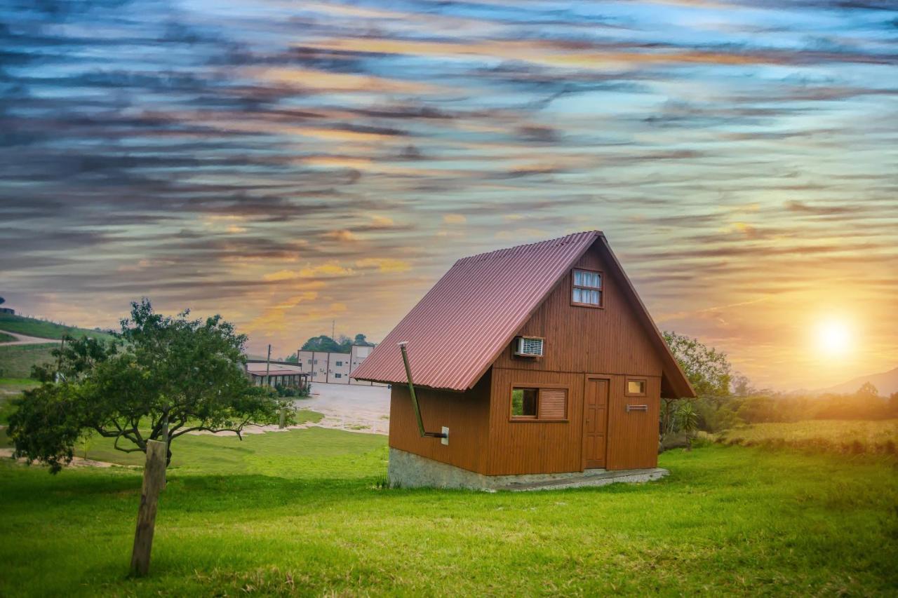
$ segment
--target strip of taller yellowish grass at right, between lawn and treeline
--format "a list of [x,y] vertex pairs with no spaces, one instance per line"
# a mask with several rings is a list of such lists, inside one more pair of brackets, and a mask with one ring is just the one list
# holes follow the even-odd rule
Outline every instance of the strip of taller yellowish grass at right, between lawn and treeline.
[[793,423],[754,424],[717,435],[724,444],[788,446],[815,452],[895,453],[898,419],[851,421],[815,419]]

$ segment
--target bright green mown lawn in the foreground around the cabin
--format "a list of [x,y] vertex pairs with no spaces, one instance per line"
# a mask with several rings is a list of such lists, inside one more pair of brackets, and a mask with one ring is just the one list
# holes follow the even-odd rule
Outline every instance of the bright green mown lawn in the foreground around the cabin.
[[[209,439],[220,452],[235,438]],[[172,470],[126,578],[139,470],[0,463],[0,594],[887,594],[898,476],[867,455],[710,446],[669,478],[533,493],[377,489],[385,438],[311,428]],[[255,443],[252,446],[250,443]],[[207,460],[207,455],[203,455]],[[208,471],[204,471],[208,468]]]

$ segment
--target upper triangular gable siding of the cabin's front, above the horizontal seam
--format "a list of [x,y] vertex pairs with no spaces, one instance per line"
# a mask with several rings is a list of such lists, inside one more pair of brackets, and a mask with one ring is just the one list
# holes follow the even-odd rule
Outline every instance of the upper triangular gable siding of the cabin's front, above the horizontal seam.
[[543,356],[512,356],[509,346],[496,367],[550,372],[661,375],[661,360],[647,331],[621,294],[621,282],[609,276],[603,260],[590,249],[576,268],[604,272],[604,309],[570,304],[571,277],[564,277],[533,313],[519,335],[545,339]]

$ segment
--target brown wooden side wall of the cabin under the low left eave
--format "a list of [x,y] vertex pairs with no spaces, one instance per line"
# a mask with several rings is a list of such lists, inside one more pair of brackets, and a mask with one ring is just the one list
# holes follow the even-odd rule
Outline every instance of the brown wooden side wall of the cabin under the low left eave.
[[465,470],[486,473],[489,426],[490,373],[467,392],[434,391],[415,387],[421,418],[427,432],[449,427],[449,444],[439,438],[418,435],[409,387],[393,384],[390,396],[390,446],[449,463]]

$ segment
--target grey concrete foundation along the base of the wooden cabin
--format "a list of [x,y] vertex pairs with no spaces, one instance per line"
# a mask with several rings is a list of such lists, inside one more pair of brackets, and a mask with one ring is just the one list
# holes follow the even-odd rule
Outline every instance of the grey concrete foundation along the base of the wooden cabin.
[[401,488],[469,488],[474,490],[554,490],[605,486],[615,482],[647,482],[669,473],[647,470],[585,470],[569,473],[533,473],[515,476],[485,476],[474,471],[390,448],[389,478]]

